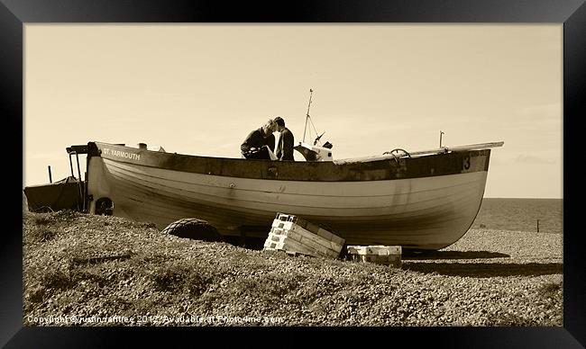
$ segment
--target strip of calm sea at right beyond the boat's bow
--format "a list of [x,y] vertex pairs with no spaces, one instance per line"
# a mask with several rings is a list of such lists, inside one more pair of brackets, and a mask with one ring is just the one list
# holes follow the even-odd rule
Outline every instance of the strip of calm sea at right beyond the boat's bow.
[[563,234],[563,199],[482,199],[473,229]]

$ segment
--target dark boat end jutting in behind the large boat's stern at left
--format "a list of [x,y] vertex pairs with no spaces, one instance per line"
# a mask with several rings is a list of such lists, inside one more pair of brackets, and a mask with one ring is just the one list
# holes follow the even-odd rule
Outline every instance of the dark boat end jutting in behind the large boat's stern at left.
[[83,206],[79,197],[79,182],[75,177],[67,177],[50,184],[27,186],[24,194],[32,212],[80,210]]

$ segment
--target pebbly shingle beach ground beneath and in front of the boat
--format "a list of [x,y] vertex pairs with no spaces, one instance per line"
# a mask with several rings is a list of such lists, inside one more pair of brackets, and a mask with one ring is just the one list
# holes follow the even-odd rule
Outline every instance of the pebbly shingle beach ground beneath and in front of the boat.
[[401,268],[25,213],[25,326],[563,326],[563,237],[470,230]]

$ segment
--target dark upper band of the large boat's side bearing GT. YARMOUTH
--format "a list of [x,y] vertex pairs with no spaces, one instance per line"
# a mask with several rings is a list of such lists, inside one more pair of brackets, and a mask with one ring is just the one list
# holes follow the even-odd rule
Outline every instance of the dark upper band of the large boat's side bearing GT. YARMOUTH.
[[102,142],[90,142],[88,146],[88,157],[103,157],[120,163],[203,175],[279,181],[366,182],[457,175],[488,171],[490,162],[490,148],[336,164],[332,161],[206,157]]

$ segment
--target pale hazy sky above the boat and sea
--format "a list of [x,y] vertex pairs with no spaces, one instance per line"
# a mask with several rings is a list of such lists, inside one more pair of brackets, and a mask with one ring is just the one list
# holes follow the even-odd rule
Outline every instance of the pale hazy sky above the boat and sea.
[[297,142],[310,88],[334,158],[503,140],[485,197],[563,197],[562,24],[25,24],[23,185],[91,140],[240,157],[281,116]]

